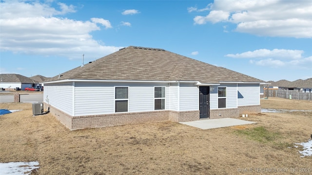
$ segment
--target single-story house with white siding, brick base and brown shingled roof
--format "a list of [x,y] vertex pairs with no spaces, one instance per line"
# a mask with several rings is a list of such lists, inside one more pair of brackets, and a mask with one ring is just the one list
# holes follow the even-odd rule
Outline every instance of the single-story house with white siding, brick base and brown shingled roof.
[[44,82],[70,130],[259,113],[262,80],[163,49],[129,46]]

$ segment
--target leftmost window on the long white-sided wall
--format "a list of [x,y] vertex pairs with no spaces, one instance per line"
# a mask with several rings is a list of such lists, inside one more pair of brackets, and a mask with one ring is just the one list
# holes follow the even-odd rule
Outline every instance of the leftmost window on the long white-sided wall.
[[115,88],[115,112],[128,112],[128,87]]

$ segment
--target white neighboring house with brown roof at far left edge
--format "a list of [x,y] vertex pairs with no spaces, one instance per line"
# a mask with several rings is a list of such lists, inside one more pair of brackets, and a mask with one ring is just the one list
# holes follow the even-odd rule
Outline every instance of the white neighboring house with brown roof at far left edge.
[[20,74],[0,74],[1,89],[16,90],[16,88],[19,88],[25,90],[25,88],[33,87],[35,83],[36,81]]

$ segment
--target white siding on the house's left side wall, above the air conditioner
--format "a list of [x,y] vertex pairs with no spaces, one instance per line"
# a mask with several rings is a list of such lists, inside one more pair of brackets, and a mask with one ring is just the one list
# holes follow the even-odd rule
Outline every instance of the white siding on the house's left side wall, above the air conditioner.
[[73,115],[73,84],[46,84],[43,91],[43,101],[63,112]]

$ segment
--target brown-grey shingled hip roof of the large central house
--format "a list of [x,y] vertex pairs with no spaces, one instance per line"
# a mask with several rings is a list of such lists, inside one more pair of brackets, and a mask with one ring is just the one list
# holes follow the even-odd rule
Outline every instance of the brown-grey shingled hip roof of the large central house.
[[200,83],[264,82],[163,49],[135,46],[121,49],[46,81],[66,79],[199,81]]

